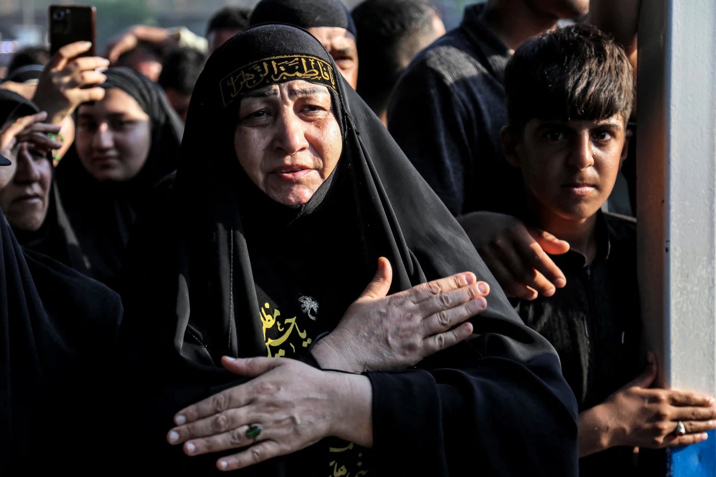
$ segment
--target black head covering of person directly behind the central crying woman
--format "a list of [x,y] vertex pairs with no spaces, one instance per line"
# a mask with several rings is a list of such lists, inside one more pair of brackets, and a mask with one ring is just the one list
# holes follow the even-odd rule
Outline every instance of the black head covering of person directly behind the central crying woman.
[[251,25],[286,23],[305,29],[337,26],[358,36],[353,17],[340,0],[261,0],[248,21]]

